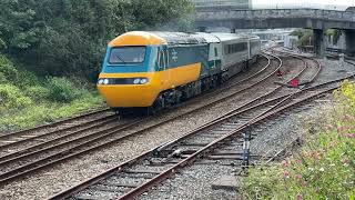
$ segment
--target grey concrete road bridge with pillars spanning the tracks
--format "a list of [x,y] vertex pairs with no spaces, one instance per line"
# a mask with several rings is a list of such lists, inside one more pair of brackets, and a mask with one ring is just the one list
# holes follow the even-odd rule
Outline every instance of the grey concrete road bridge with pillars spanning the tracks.
[[233,10],[221,8],[197,9],[195,23],[201,30],[213,27],[235,29],[313,29],[315,51],[324,54],[324,33],[327,29],[339,29],[346,36],[346,51],[355,53],[355,12],[320,9],[266,9]]

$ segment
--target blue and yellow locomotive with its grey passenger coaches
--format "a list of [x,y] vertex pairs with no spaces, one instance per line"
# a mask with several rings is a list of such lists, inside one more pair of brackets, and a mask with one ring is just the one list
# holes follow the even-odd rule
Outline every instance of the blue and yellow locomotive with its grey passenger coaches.
[[260,38],[235,33],[124,33],[109,43],[98,88],[121,114],[161,110],[216,87],[247,68]]

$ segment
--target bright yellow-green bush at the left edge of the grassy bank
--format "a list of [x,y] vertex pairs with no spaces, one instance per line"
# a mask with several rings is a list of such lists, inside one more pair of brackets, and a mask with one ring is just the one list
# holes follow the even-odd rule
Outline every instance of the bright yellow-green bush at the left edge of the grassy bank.
[[11,84],[0,84],[0,106],[2,106],[2,108],[19,109],[31,103],[31,99],[23,96],[19,88]]

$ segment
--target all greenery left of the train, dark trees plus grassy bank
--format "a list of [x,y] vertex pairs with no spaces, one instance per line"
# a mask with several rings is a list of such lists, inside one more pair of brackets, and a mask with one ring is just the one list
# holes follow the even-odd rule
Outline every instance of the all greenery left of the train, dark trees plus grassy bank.
[[190,0],[1,0],[0,9],[0,131],[102,106],[93,82],[106,43],[132,30],[189,30],[193,11]]

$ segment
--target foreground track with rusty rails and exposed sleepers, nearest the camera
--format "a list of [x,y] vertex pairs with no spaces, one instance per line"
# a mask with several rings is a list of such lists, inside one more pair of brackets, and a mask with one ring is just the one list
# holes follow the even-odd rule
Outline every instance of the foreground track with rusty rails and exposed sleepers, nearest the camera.
[[245,130],[300,103],[337,89],[342,80],[344,79],[298,89],[244,110],[233,109],[230,113],[174,141],[148,151],[51,199],[136,198],[187,164],[201,158],[211,159],[214,150],[221,149],[225,143],[242,147],[242,133]]

